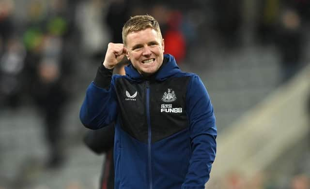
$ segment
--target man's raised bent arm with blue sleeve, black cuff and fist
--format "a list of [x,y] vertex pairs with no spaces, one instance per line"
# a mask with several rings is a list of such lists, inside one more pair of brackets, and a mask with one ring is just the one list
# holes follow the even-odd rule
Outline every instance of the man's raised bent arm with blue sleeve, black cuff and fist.
[[99,129],[115,120],[117,100],[112,72],[126,52],[124,44],[109,43],[105,60],[98,68],[94,81],[87,88],[80,109],[79,117],[85,127]]

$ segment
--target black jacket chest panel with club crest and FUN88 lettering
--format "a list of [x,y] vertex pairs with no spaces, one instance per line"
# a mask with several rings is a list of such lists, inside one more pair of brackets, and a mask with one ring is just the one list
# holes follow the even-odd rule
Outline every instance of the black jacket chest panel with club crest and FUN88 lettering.
[[186,89],[189,77],[169,78],[150,86],[152,143],[188,127]]

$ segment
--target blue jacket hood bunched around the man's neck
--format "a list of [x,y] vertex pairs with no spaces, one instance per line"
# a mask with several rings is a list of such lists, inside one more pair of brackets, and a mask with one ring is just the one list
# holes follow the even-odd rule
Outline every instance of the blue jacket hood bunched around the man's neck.
[[[141,75],[131,63],[125,67],[125,72],[126,75],[132,80],[143,79],[143,75]],[[163,64],[160,66],[156,73],[150,76],[150,78],[155,78],[155,80],[162,81],[180,72],[181,70],[176,64],[175,58],[170,54],[165,54]]]

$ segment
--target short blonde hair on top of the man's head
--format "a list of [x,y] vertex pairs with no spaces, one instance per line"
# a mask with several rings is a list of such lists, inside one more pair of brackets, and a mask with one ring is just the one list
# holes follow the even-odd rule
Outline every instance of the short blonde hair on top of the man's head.
[[154,29],[160,38],[162,38],[161,31],[157,20],[151,15],[137,15],[130,17],[124,24],[122,31],[123,44],[126,46],[126,37],[128,34],[141,31],[147,28]]

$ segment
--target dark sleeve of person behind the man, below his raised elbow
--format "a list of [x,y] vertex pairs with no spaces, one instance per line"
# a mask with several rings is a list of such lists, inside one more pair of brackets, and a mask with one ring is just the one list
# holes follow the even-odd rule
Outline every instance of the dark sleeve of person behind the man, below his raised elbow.
[[99,130],[90,130],[84,135],[83,142],[94,153],[102,154],[108,152],[114,145],[114,124]]

